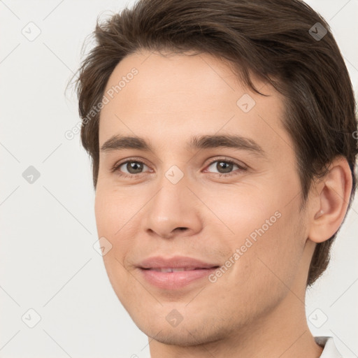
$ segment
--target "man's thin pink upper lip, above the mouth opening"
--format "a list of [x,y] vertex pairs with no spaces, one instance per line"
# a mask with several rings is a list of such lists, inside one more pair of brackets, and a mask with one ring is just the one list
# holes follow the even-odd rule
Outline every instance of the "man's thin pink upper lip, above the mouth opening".
[[148,257],[138,264],[140,268],[213,268],[217,266],[219,265],[184,256]]

